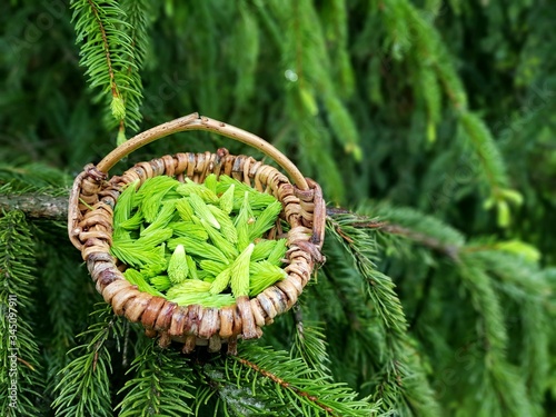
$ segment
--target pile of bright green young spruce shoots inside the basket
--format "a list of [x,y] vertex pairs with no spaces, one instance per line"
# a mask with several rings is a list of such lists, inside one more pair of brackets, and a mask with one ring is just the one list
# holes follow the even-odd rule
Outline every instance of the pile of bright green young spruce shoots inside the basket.
[[113,212],[111,252],[139,290],[180,306],[225,307],[287,275],[286,239],[266,239],[282,209],[228,176],[203,183],[159,176],[126,187]]

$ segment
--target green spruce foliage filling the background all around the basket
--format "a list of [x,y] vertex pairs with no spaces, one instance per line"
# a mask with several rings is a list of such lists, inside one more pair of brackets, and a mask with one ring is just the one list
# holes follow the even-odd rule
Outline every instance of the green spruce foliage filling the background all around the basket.
[[[0,414],[554,415],[555,21],[546,0],[2,2],[0,360],[10,295],[21,360]],[[63,219],[10,205],[192,111],[329,202],[316,284],[238,357],[160,350],[95,306]],[[177,135],[113,172],[221,146],[259,156]]]

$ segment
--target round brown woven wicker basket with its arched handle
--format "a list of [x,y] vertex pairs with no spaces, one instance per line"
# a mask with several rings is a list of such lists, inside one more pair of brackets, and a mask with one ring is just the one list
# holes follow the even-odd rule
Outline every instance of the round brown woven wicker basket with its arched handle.
[[[186,130],[209,130],[248,143],[280,165],[295,185],[276,168],[251,157],[228,155],[224,148],[217,153],[167,155],[139,162],[123,175],[108,179],[110,168],[125,156],[159,138]],[[211,172],[226,173],[259,191],[270,192],[282,203],[280,216],[290,226],[287,278],[257,297],[240,297],[236,305],[225,308],[180,307],[138,290],[123,277],[121,271],[126,266],[110,255],[113,207],[122,187],[137,179],[142,183],[160,175],[180,181],[187,176],[202,182]],[[228,342],[228,353],[235,353],[238,337],[260,337],[260,328],[294,306],[315,264],[322,262],[324,229],[325,201],[318,183],[305,178],[289,159],[261,138],[197,113],[147,130],[116,148],[99,165],[86,166],[73,182],[68,214],[70,240],[81,250],[97,290],[115,312],[130,321],[140,321],[149,337],[160,336],[161,346],[168,346],[170,340],[183,342],[186,353],[207,345],[210,351],[218,351],[222,342]]]

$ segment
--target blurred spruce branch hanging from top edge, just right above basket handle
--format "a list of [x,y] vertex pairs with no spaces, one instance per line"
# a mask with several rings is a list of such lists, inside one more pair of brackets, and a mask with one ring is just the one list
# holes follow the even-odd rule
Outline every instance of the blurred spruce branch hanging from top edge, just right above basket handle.
[[[265,7],[259,2],[257,12],[284,57],[289,81],[284,85],[287,106],[281,118],[297,133],[289,141],[296,147],[300,168],[318,177],[332,199],[341,200],[345,187],[332,158],[332,142],[342,146],[355,160],[361,159],[361,150],[341,88],[329,71],[330,57],[316,7],[305,0],[271,1]],[[327,151],[307,151],[317,148]]]

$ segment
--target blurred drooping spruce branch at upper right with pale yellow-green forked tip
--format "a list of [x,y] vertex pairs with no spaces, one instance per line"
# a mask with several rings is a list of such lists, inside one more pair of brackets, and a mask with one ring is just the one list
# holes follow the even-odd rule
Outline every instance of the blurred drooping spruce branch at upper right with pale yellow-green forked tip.
[[425,80],[425,87],[415,88],[417,98],[424,99],[428,112],[428,137],[434,141],[436,125],[440,120],[439,86],[457,115],[459,138],[470,148],[481,177],[488,187],[487,208],[496,206],[498,225],[509,225],[509,203],[520,205],[523,197],[509,188],[506,166],[490,130],[468,109],[467,93],[453,64],[453,59],[438,30],[428,22],[408,0],[396,0],[379,8],[385,14],[393,48],[407,50],[415,71]]

